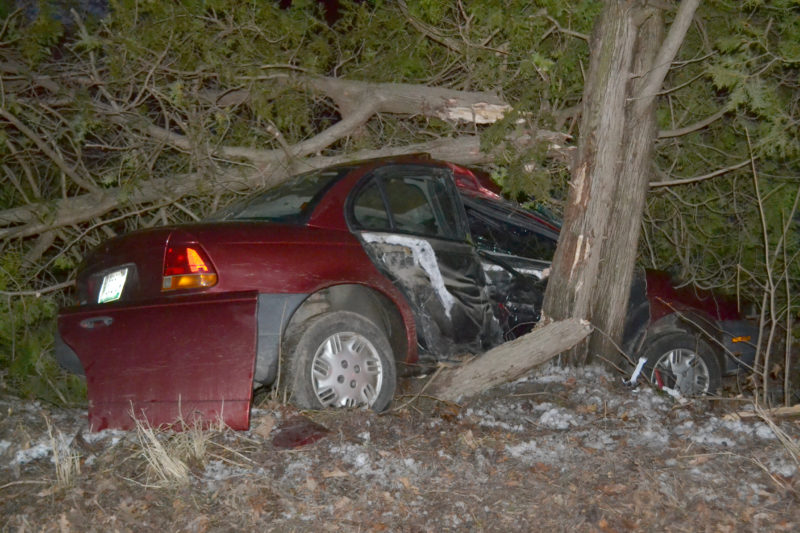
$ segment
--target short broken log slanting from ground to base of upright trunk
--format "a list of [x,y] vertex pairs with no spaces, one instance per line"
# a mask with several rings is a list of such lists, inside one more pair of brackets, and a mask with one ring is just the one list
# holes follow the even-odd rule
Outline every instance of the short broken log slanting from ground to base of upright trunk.
[[497,385],[519,379],[583,340],[592,331],[588,322],[568,319],[538,327],[455,367],[445,368],[428,388],[441,400],[458,401]]

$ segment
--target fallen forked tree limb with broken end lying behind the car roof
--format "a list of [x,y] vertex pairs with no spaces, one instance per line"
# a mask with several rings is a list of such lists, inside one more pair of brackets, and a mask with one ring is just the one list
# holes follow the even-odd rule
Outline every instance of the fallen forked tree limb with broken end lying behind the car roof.
[[[177,201],[184,196],[230,190],[244,191],[254,187],[275,185],[299,171],[359,159],[425,152],[437,159],[460,164],[488,163],[493,160],[493,154],[481,153],[480,139],[476,135],[442,138],[402,147],[363,150],[344,156],[330,157],[318,154],[352,135],[379,113],[422,115],[451,122],[469,121],[486,124],[501,119],[511,109],[507,103],[490,92],[458,91],[399,83],[372,83],[302,74],[279,75],[279,78],[285,82],[304,84],[309,90],[331,98],[340,108],[342,119],[311,138],[294,145],[286,144],[279,149],[247,146],[213,147],[208,151],[211,157],[245,164],[238,168],[236,165],[229,166],[216,175],[210,175],[207,171],[190,172],[140,181],[133,190],[130,185],[98,189],[93,186],[94,184],[81,181],[80,176],[65,167],[63,161],[54,158],[65,174],[87,188],[90,193],[40,201],[0,211],[0,240],[30,237],[66,225],[85,223],[115,209],[138,208],[154,202],[163,203],[165,200]],[[68,90],[57,88],[54,90],[69,93]],[[237,103],[250,98],[246,90],[235,92]],[[207,92],[202,95],[202,99],[217,105],[218,99],[226,94],[230,93]],[[162,128],[143,118],[142,115],[123,113],[118,107],[97,101],[93,105],[107,120],[123,128],[133,128],[151,141],[187,153],[192,153],[197,148],[197,141],[189,136]],[[8,112],[3,111],[0,116],[16,126],[19,121],[14,122],[15,117],[9,119],[5,116],[7,114]],[[25,127],[22,124],[20,126]],[[562,161],[569,160],[572,148],[566,144],[570,139],[568,135],[547,130],[521,131],[515,135],[515,138],[507,141],[517,147],[547,143],[551,155]],[[48,153],[46,151],[48,147],[41,144],[37,143],[42,151]],[[502,150],[502,146],[498,147],[498,150]]]

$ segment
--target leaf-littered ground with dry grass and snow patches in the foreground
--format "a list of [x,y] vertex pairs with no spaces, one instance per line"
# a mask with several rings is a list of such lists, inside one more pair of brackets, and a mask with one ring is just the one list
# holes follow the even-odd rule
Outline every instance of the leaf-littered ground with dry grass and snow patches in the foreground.
[[88,433],[85,410],[0,396],[0,529],[800,530],[797,420],[598,367],[463,405],[422,383],[380,415],[263,401],[248,432]]

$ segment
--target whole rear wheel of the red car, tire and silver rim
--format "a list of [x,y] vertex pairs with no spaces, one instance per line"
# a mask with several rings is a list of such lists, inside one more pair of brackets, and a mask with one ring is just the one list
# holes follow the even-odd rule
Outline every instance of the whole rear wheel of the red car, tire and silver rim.
[[363,316],[314,316],[289,335],[283,368],[289,399],[302,409],[370,407],[392,401],[397,373],[383,330]]

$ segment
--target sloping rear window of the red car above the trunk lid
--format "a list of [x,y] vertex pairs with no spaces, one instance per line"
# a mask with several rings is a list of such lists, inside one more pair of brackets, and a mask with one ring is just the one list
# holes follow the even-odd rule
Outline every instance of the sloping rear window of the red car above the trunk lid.
[[342,167],[300,174],[276,187],[234,203],[213,214],[208,220],[304,224],[322,196],[349,170]]

